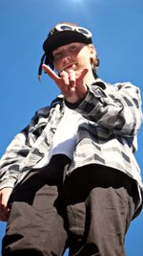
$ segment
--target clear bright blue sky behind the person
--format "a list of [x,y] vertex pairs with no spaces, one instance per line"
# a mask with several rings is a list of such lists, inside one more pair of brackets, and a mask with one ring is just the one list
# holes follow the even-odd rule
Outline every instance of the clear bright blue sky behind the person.
[[[37,70],[42,43],[57,22],[72,21],[93,34],[99,77],[132,81],[143,95],[142,0],[0,0],[0,155],[39,107],[59,93]],[[143,169],[143,128],[138,133],[136,159]],[[0,241],[5,223],[0,223]],[[127,256],[142,256],[143,214],[135,219],[126,240]],[[66,253],[67,255],[67,253]]]

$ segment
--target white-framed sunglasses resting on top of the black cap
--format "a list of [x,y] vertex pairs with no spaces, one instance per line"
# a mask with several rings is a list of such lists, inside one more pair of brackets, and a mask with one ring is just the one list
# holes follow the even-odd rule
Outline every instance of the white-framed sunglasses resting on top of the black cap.
[[61,31],[75,31],[85,35],[87,38],[92,37],[92,33],[89,30],[83,27],[74,27],[72,25],[67,25],[64,23],[56,25],[50,34],[53,35],[55,32],[61,32]]

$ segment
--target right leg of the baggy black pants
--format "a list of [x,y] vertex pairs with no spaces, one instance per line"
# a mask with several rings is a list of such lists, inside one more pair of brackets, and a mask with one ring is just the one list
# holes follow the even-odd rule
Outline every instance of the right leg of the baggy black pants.
[[70,255],[123,256],[134,218],[136,183],[110,168],[89,165],[66,179]]

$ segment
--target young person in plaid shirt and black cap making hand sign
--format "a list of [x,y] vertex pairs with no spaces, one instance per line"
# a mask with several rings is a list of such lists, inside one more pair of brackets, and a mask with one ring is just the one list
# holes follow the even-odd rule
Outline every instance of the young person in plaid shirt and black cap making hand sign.
[[67,246],[70,255],[125,255],[142,207],[133,156],[139,89],[97,77],[92,33],[76,24],[57,24],[43,49],[39,75],[43,68],[62,95],[36,112],[2,157],[3,256],[59,256]]

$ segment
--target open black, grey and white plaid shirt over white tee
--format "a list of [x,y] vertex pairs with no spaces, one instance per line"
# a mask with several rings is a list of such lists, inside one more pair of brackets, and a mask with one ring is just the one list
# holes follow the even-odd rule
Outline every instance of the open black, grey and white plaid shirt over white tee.
[[143,188],[133,155],[142,122],[139,88],[130,82],[110,84],[97,79],[78,104],[67,103],[61,95],[35,113],[31,124],[15,136],[1,158],[0,189],[20,182],[51,150],[65,105],[82,118],[77,124],[76,148],[67,174],[94,163],[130,175]]

